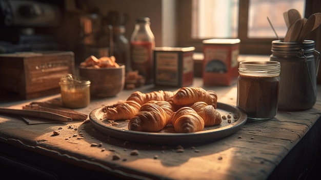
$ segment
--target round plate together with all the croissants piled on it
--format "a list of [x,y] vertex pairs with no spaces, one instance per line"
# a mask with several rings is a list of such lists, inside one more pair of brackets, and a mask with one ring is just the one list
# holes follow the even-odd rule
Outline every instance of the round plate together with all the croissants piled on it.
[[175,92],[135,91],[124,102],[94,109],[89,118],[97,130],[126,141],[190,144],[235,133],[247,114],[218,103],[215,91],[183,87]]

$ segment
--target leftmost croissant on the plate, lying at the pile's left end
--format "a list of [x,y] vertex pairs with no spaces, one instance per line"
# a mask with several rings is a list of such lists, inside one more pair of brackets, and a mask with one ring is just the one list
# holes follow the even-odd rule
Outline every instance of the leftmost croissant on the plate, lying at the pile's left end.
[[117,104],[115,107],[107,108],[106,118],[110,120],[130,119],[141,108],[135,101],[126,101]]

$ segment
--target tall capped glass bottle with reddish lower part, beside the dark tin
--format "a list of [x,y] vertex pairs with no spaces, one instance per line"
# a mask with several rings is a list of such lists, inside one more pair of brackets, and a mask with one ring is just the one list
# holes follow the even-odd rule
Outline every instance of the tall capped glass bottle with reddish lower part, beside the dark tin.
[[131,67],[145,77],[145,84],[152,84],[153,50],[155,37],[150,29],[150,18],[136,19],[135,29],[131,35]]

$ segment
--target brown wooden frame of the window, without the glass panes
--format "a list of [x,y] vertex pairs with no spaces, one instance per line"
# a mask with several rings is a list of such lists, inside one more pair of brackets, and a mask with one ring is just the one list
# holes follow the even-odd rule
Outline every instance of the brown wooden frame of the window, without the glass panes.
[[[202,41],[204,39],[193,39],[191,36],[192,0],[177,0],[177,46],[194,46],[195,52],[203,51]],[[248,38],[248,10],[249,0],[239,0],[238,11],[238,37],[240,42],[240,54],[271,54],[271,42],[276,38]],[[321,1],[306,0],[305,17],[309,17],[314,12],[321,12]],[[283,16],[282,16],[283,18]],[[240,26],[246,25],[246,26]],[[320,27],[310,35],[310,39],[320,39],[316,41],[316,48],[321,44]]]

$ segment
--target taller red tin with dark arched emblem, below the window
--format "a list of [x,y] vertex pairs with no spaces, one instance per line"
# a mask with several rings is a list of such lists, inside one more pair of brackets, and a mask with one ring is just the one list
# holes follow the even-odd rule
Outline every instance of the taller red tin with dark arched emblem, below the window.
[[240,39],[207,39],[203,41],[203,84],[230,86],[238,77]]

